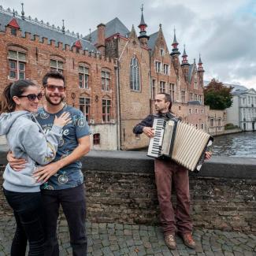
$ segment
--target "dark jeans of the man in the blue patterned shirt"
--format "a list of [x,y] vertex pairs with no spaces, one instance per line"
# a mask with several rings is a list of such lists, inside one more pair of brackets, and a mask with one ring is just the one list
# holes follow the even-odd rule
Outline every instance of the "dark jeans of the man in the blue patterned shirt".
[[70,244],[74,256],[87,255],[87,236],[85,231],[85,191],[83,184],[62,190],[42,190],[46,228],[45,256],[58,256],[57,221],[59,207],[68,221]]

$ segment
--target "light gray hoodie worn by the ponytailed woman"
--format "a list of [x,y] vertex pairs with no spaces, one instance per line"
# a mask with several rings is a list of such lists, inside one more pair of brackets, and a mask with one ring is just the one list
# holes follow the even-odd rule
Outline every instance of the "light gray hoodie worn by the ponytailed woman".
[[14,192],[38,192],[40,183],[32,177],[38,165],[46,165],[54,160],[61,138],[62,128],[53,125],[45,135],[32,113],[14,111],[0,116],[0,135],[6,135],[10,150],[15,158],[25,158],[25,168],[14,171],[6,165],[3,187]]

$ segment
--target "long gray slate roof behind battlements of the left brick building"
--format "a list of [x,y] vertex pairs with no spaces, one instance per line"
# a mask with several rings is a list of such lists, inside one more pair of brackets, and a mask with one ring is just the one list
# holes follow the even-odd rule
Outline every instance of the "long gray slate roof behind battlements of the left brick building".
[[[55,41],[55,46],[58,46],[58,42],[63,43],[63,49],[65,48],[65,44],[72,46],[74,42],[77,40],[77,35],[65,32],[65,34],[61,31],[61,28],[53,28],[52,26],[43,23],[37,19],[33,20],[31,17],[25,17],[24,20],[16,15],[15,16],[17,23],[20,26],[21,35],[25,36],[25,32],[31,33],[31,35],[39,35],[39,40],[43,42],[43,37],[48,39],[50,44],[50,40]],[[6,26],[13,19],[13,14],[9,13],[4,9],[0,9],[0,29],[5,32]],[[98,52],[97,48],[86,39],[80,39],[80,43],[83,46],[83,50]]]

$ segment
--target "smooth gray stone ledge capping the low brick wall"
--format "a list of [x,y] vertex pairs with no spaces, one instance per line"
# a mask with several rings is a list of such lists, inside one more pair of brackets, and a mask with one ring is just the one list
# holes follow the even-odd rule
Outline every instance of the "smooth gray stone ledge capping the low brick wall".
[[[6,165],[7,148],[0,148],[0,165]],[[83,169],[120,172],[153,173],[154,158],[146,152],[91,150],[82,158]],[[256,179],[256,158],[213,157],[206,161],[199,173],[191,176]]]

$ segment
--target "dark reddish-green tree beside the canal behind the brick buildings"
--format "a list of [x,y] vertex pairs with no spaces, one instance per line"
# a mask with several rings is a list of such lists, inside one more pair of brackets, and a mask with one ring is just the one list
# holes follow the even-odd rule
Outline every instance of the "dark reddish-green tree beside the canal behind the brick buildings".
[[210,109],[227,109],[232,106],[233,87],[225,87],[223,83],[213,79],[204,88],[205,105]]

